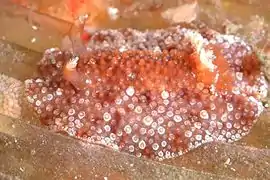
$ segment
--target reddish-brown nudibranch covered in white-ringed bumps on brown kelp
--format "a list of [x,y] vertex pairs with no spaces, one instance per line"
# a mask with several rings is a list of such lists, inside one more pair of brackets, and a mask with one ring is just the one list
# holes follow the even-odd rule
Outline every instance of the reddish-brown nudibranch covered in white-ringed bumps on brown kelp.
[[26,81],[55,132],[137,157],[167,159],[247,135],[267,81],[252,47],[205,27],[99,30],[87,50],[48,49]]

